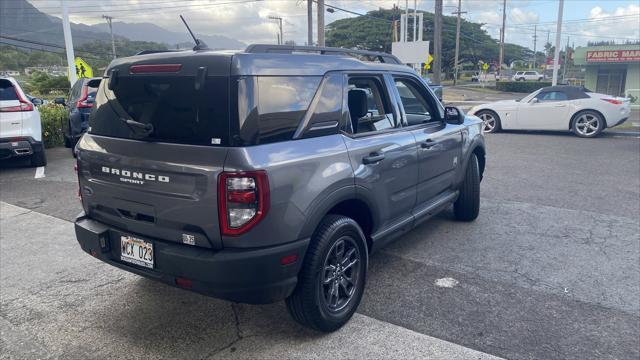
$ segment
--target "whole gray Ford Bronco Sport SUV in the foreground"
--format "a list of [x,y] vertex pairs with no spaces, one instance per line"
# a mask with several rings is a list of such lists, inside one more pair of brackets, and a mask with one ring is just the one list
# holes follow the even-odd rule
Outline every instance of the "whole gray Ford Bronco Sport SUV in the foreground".
[[118,268],[333,331],[372,251],[478,215],[482,121],[388,54],[252,45],[105,72],[77,145],[78,242]]

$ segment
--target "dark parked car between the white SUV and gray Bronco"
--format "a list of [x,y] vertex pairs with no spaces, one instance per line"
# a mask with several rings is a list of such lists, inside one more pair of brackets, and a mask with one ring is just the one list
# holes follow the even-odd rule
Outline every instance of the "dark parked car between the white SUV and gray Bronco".
[[64,105],[69,111],[69,121],[62,124],[66,147],[73,148],[89,128],[89,114],[101,80],[101,78],[80,78],[69,91],[68,100],[61,97],[54,100],[56,104]]

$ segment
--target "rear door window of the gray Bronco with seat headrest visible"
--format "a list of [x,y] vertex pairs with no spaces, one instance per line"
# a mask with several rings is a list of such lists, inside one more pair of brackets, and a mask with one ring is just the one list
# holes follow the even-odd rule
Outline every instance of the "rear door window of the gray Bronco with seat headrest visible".
[[[360,91],[366,95],[366,113],[358,114],[358,104],[349,104],[351,126],[356,134],[390,129],[396,126],[395,119],[384,91],[382,79],[379,77],[353,77],[349,79],[348,90]],[[357,97],[354,97],[357,98]],[[363,103],[364,104],[364,103]],[[362,115],[358,117],[358,115]]]

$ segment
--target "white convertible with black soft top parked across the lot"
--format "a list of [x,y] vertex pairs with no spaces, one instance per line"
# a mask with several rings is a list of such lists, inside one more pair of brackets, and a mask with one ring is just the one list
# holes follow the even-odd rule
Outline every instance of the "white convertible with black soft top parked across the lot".
[[578,86],[550,86],[519,100],[475,106],[469,114],[484,121],[484,131],[570,130],[580,137],[598,136],[629,118],[629,99],[590,92]]

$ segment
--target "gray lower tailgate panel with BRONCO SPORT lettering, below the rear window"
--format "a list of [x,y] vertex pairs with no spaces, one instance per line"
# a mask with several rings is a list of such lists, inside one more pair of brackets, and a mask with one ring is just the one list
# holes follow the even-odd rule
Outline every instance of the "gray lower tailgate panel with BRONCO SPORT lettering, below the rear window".
[[126,233],[221,248],[217,181],[225,148],[87,134],[78,149],[89,217]]

